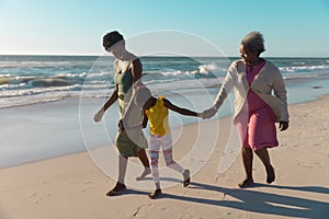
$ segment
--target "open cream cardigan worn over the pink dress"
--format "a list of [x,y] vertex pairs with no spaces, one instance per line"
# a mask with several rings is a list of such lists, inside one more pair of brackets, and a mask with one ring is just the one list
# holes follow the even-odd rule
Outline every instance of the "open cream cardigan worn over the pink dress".
[[[226,74],[223,85],[217,94],[214,106],[218,110],[224,103],[227,94],[234,88],[235,90],[235,115],[236,124],[237,115],[242,110],[247,100],[249,89],[254,91],[271,108],[277,122],[288,122],[288,112],[286,103],[286,90],[280,70],[266,60],[265,66],[260,70],[251,85],[246,78],[246,65],[242,59],[234,61]],[[274,95],[272,95],[274,91]]]

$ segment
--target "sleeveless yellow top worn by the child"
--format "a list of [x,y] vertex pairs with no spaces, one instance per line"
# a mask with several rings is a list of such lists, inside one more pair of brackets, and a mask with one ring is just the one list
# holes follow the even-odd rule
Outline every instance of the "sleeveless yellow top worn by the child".
[[157,99],[156,104],[146,110],[150,132],[156,136],[166,136],[170,132],[168,108],[163,105],[164,96]]

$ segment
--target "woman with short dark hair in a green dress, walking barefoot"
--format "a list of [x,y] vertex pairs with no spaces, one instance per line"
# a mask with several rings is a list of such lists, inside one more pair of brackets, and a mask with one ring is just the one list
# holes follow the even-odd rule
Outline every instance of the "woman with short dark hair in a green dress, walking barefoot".
[[[109,101],[94,115],[95,122],[100,122],[105,111],[116,101],[118,101],[120,118],[123,117],[129,105],[133,89],[140,83],[143,71],[140,60],[134,54],[126,50],[125,41],[117,31],[104,35],[103,46],[106,51],[112,53],[116,58],[114,61],[115,88]],[[135,119],[132,123],[140,123],[141,116],[141,114],[132,116],[132,118]],[[106,194],[107,196],[118,195],[126,188],[124,178],[128,157],[138,157],[145,166],[140,177],[150,174],[149,162],[145,152],[147,140],[141,129],[133,130],[129,135],[126,131],[118,131],[116,134],[115,145],[118,151],[118,178],[115,187]]]

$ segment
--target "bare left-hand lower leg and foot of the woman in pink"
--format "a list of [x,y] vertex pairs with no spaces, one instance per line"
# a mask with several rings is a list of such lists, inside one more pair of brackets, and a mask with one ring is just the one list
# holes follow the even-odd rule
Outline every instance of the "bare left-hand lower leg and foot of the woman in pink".
[[242,162],[243,168],[246,172],[246,178],[242,181],[242,183],[239,183],[239,187],[247,187],[253,183],[252,178],[252,149],[251,148],[245,148],[242,147]]

